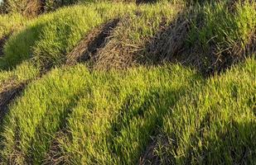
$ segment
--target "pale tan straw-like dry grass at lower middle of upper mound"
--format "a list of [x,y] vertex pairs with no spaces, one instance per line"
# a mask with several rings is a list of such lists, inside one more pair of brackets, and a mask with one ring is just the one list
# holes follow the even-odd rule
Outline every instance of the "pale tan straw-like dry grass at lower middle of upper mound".
[[[129,16],[123,17],[116,31],[123,31],[123,27],[128,27],[132,18]],[[93,59],[93,68],[99,70],[108,70],[110,68],[124,69],[136,64],[137,57],[144,50],[143,45],[131,44],[127,35],[118,35],[118,38],[113,35],[109,35],[105,41],[104,48],[100,49]]]

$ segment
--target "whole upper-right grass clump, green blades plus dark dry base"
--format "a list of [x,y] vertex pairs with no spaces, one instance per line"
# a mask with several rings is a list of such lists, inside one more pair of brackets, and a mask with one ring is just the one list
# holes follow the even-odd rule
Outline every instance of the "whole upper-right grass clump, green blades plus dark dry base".
[[206,2],[196,8],[197,16],[188,34],[188,46],[195,56],[202,56],[196,57],[201,59],[200,65],[220,71],[237,59],[243,59],[255,37],[255,2]]

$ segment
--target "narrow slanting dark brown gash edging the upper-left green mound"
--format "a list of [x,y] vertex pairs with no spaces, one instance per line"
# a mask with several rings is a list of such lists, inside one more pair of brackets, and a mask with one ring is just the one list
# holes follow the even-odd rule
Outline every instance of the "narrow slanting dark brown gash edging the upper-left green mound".
[[81,40],[79,45],[67,55],[66,64],[72,65],[92,59],[96,52],[105,46],[105,40],[118,25],[118,21],[118,19],[109,21],[86,35],[85,39]]

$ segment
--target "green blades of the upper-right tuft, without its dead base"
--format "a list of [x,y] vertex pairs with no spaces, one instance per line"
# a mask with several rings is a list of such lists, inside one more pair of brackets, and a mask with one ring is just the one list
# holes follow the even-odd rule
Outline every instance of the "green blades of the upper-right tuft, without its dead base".
[[256,4],[238,1],[232,6],[230,3],[206,2],[196,7],[196,20],[192,21],[188,36],[189,46],[196,44],[205,53],[214,46],[215,54],[231,52],[235,55],[245,50],[256,31]]

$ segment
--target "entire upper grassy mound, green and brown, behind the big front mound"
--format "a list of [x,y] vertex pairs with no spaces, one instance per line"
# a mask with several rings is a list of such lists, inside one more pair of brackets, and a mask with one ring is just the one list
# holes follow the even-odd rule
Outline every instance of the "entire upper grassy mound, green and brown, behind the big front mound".
[[[205,2],[187,9],[182,3],[136,7],[101,2],[67,7],[40,16],[13,35],[4,48],[2,67],[36,59],[36,64],[47,69],[64,64],[73,51],[72,56],[94,54],[89,58],[93,68],[127,68],[168,60],[196,66],[205,73],[220,72],[244,59],[244,54],[255,53],[255,4]],[[119,22],[102,39],[104,43],[86,50],[86,37],[97,34],[93,29],[114,19]]]

